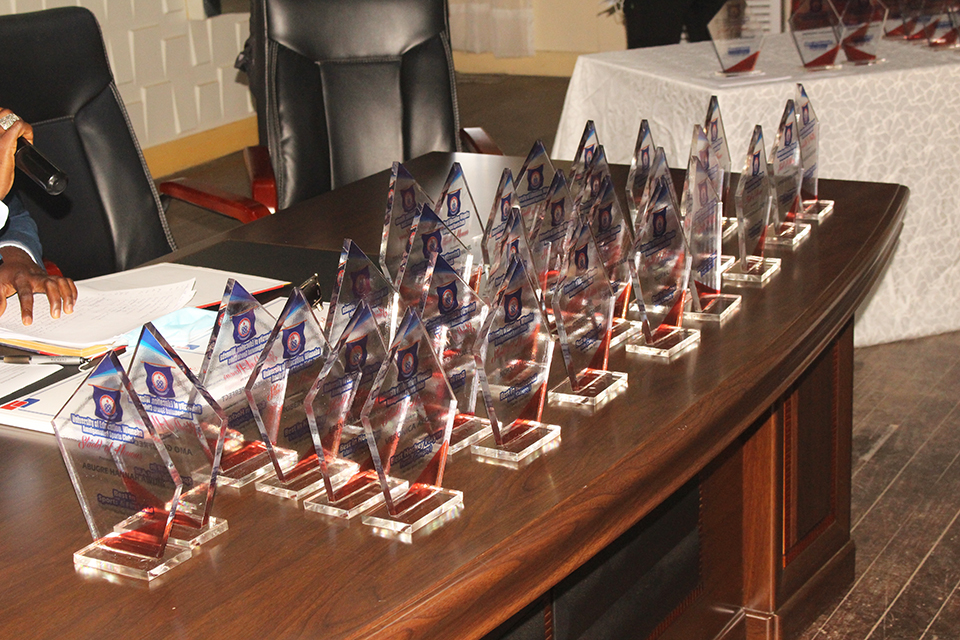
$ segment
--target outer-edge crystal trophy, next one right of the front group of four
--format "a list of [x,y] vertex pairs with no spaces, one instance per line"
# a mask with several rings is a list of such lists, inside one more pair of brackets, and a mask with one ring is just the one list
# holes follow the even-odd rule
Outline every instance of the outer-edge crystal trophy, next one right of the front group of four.
[[536,285],[519,258],[483,325],[476,357],[493,434],[471,452],[481,461],[516,465],[558,444],[560,427],[540,422],[553,342]]

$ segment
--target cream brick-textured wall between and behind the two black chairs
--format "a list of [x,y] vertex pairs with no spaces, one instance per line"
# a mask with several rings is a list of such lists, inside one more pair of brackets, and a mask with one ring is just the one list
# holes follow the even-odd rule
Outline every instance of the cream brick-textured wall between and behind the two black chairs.
[[117,87],[140,146],[151,147],[254,113],[233,61],[249,16],[210,19],[190,0],[0,0],[0,14],[80,5],[103,30]]

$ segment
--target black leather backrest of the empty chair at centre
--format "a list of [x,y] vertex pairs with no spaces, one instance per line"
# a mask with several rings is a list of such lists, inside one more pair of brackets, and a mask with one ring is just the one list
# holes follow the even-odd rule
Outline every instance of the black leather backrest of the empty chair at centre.
[[457,148],[445,0],[253,0],[250,25],[280,207]]

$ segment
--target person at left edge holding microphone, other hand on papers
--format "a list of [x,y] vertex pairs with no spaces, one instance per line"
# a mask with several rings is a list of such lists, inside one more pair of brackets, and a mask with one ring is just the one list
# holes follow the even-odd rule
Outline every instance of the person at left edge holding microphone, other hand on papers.
[[72,313],[77,300],[73,280],[51,276],[41,263],[37,224],[13,189],[17,138],[33,142],[33,127],[9,109],[0,108],[0,315],[7,309],[7,297],[20,299],[23,324],[33,322],[33,294],[43,293],[50,303],[50,316]]

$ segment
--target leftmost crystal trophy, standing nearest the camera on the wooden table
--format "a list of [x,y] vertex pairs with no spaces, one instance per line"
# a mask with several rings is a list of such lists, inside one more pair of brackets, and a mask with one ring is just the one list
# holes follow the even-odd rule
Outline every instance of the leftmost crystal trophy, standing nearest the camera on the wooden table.
[[116,354],[100,359],[53,429],[93,535],[75,567],[150,580],[190,558],[189,545],[170,540],[180,475]]

